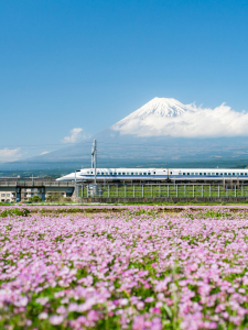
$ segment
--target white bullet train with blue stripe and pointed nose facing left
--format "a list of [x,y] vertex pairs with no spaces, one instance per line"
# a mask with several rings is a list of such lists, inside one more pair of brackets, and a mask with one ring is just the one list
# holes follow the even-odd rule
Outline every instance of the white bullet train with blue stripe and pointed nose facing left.
[[[95,169],[84,168],[57,182],[94,182]],[[234,168],[97,168],[97,182],[209,182],[222,179],[248,180],[248,169]]]

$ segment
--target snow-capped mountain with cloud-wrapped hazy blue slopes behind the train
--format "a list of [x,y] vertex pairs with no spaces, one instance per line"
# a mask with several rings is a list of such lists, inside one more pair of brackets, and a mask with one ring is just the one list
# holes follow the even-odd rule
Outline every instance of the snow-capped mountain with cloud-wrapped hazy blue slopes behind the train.
[[19,162],[17,166],[88,167],[94,139],[98,143],[99,166],[220,167],[240,162],[246,166],[247,128],[248,114],[224,103],[204,109],[172,98],[154,98],[90,140],[25,160],[23,165]]

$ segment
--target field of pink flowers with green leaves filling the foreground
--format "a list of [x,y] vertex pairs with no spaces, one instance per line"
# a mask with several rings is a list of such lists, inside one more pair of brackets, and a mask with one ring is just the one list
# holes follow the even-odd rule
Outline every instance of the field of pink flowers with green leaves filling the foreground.
[[2,213],[0,329],[248,329],[247,242],[241,209]]

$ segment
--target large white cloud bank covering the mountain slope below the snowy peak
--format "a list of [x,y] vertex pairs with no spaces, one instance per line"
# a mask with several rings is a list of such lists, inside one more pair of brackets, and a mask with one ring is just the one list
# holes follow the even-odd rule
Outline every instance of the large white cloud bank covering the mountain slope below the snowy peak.
[[225,103],[215,109],[202,109],[192,106],[192,111],[185,111],[177,117],[149,114],[115,125],[114,129],[121,134],[138,136],[247,136],[248,113],[234,111]]

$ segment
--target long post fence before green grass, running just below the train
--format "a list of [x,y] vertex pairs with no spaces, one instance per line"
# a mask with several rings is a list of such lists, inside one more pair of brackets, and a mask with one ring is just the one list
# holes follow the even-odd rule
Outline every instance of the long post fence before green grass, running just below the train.
[[77,185],[76,197],[248,197],[248,185]]

